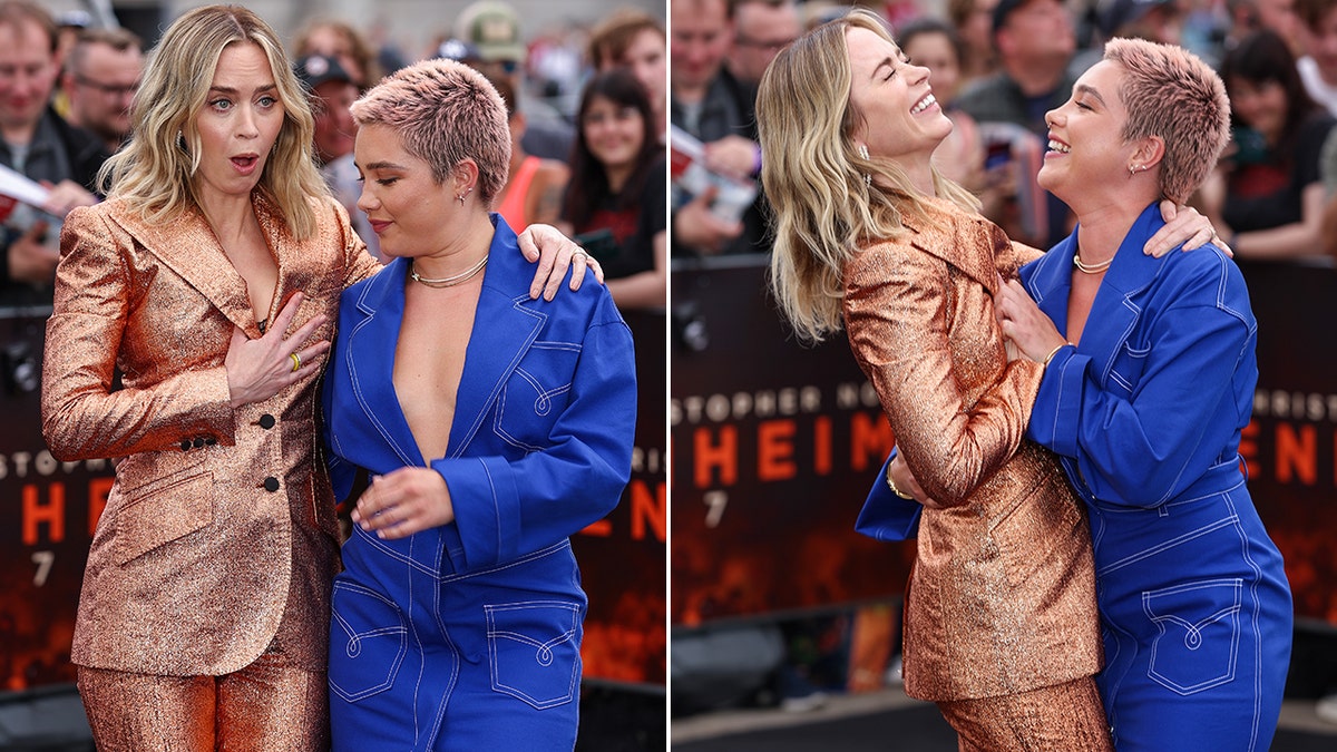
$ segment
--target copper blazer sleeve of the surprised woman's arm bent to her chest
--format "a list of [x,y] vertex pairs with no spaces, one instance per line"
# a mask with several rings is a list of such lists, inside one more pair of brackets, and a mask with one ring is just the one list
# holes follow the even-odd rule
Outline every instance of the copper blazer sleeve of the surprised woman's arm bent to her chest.
[[233,443],[222,365],[114,391],[116,356],[135,294],[126,242],[131,242],[128,236],[112,231],[92,209],[71,211],[60,233],[41,373],[41,432],[60,460],[167,450],[190,435]]

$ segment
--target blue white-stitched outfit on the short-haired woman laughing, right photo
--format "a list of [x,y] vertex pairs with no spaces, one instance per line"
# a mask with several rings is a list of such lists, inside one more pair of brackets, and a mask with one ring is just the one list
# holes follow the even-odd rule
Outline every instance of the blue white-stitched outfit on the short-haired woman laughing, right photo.
[[[1082,341],[1044,375],[1028,436],[1054,450],[1091,512],[1106,668],[1120,752],[1263,752],[1281,712],[1292,602],[1281,553],[1238,454],[1258,380],[1239,269],[1215,249],[1163,258],[1123,240]],[[1076,234],[1021,280],[1067,329]]]

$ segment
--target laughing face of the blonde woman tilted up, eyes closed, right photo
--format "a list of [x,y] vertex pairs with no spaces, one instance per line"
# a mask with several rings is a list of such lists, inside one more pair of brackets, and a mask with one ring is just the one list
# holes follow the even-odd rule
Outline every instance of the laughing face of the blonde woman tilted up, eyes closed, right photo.
[[849,29],[846,44],[849,100],[862,115],[854,140],[873,157],[928,165],[952,132],[928,86],[928,68],[912,64],[900,48],[864,28]]

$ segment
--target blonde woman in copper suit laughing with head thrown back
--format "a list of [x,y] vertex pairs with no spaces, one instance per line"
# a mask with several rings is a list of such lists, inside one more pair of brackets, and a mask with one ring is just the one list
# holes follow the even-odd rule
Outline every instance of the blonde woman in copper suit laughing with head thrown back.
[[[906,693],[937,702],[963,751],[1111,749],[1086,514],[1024,439],[1044,365],[995,321],[1000,276],[1038,252],[933,167],[952,123],[866,11],[782,51],[757,119],[781,309],[808,340],[848,332],[897,439],[889,464],[919,480],[888,475],[857,523],[882,539],[917,525]],[[1210,234],[1182,214],[1167,241]]]

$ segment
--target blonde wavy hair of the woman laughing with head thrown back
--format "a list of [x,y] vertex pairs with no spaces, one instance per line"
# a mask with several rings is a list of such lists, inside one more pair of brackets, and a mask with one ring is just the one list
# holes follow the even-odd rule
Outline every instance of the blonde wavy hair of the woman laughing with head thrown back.
[[[923,211],[923,195],[893,161],[857,151],[853,134],[865,120],[849,99],[852,28],[893,41],[878,16],[854,9],[781,51],[757,95],[761,179],[775,238],[770,286],[798,336],[814,343],[841,328],[844,268],[857,244],[898,237],[902,214]],[[936,167],[933,187],[968,211],[980,207]]]

